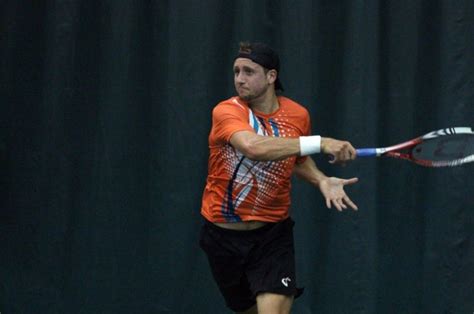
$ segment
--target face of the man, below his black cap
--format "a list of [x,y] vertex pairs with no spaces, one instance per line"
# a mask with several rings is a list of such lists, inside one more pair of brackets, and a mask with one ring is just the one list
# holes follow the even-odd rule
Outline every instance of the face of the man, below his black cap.
[[268,90],[273,73],[246,58],[237,58],[234,62],[234,85],[240,98],[245,101],[252,101]]

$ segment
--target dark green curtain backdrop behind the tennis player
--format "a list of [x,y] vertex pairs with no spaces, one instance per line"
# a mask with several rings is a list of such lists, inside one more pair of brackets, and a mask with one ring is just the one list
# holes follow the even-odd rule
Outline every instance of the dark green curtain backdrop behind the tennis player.
[[[0,1],[0,312],[228,313],[198,247],[211,110],[272,45],[313,132],[474,126],[474,1]],[[474,164],[315,156],[294,181],[294,313],[474,311]]]

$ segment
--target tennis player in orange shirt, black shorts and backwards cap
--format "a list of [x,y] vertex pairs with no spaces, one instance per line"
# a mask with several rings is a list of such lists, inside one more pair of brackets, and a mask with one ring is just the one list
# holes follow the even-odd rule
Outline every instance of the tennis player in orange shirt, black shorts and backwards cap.
[[227,306],[237,313],[289,313],[296,288],[291,175],[310,182],[328,208],[357,206],[344,180],[324,175],[308,155],[332,163],[356,157],[345,141],[310,136],[308,111],[276,94],[279,58],[262,43],[241,43],[234,61],[238,96],[212,113],[209,174],[201,213],[200,245]]

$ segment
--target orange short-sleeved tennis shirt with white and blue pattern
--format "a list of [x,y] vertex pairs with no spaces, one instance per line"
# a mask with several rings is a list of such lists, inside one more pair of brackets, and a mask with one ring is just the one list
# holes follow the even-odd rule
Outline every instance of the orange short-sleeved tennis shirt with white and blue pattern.
[[262,136],[310,135],[308,111],[289,98],[279,96],[279,109],[272,114],[252,111],[239,97],[214,107],[209,134],[209,165],[201,214],[211,222],[259,220],[281,221],[289,216],[291,173],[306,157],[279,161],[255,161],[230,144],[238,131]]

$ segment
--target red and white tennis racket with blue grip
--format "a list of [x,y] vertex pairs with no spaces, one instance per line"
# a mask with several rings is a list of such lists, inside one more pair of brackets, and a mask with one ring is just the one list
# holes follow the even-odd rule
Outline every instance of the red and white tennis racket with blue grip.
[[392,157],[425,167],[453,167],[474,161],[474,132],[469,127],[441,129],[384,148],[356,149],[358,157]]

